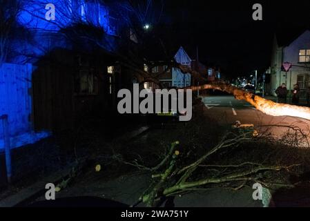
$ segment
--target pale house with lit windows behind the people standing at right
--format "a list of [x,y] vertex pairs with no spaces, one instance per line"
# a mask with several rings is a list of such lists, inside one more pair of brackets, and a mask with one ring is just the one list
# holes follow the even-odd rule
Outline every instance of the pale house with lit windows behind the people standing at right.
[[[292,40],[293,39],[293,40]],[[286,72],[282,66],[289,62],[292,66]],[[273,40],[271,56],[270,84],[267,86],[270,93],[275,95],[275,89],[282,83],[287,84],[288,90],[293,89],[294,84],[300,86],[300,97],[304,97],[309,85],[310,77],[310,30],[304,31],[298,37],[284,39],[277,35]]]

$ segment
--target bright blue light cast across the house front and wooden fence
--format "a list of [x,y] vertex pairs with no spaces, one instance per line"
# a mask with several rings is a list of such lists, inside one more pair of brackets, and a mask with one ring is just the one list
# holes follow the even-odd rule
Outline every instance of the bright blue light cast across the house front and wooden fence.
[[[116,35],[117,28],[110,23],[109,10],[104,5],[84,0],[38,0],[28,3],[17,21],[21,26],[30,30],[31,39],[12,39],[10,47],[14,57],[10,62],[0,67],[0,115],[8,115],[10,142],[12,148],[33,144],[50,135],[49,132],[35,133],[32,128],[32,88],[33,67],[28,62],[35,62],[48,54],[54,48],[70,49],[71,44],[64,40],[59,32],[74,22],[87,21],[93,26],[102,28],[108,35]],[[79,4],[77,4],[79,2]],[[46,4],[55,5],[55,20],[46,19]],[[82,3],[82,4],[81,4]],[[80,20],[77,16],[80,16]],[[115,23],[115,18],[113,20]],[[115,39],[106,38],[110,45],[116,45]],[[3,131],[0,128],[0,151],[4,146]]]

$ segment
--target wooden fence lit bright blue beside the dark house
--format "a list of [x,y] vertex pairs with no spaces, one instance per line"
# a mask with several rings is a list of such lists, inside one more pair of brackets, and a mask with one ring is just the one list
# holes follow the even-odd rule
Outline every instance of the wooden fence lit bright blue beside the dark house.
[[[32,128],[32,65],[3,64],[0,67],[0,116],[8,115],[11,148],[33,144],[49,135]],[[0,151],[5,148],[0,129]]]

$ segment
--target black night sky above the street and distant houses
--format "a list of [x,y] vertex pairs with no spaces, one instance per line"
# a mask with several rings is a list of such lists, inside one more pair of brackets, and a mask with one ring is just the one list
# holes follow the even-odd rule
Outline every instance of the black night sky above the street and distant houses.
[[[253,21],[261,3],[263,21]],[[269,67],[274,33],[292,41],[310,28],[310,1],[164,1],[166,44],[182,45],[204,64],[219,65],[226,75],[247,75]],[[163,28],[164,29],[164,28]]]

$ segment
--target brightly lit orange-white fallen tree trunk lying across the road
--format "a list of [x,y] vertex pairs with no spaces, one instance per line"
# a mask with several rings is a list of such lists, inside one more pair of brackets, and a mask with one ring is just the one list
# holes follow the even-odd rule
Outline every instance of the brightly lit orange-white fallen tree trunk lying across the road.
[[291,104],[278,104],[269,99],[264,99],[258,95],[253,95],[252,93],[246,92],[241,88],[237,88],[230,84],[204,84],[202,86],[190,86],[184,89],[191,90],[206,90],[215,89],[221,90],[226,93],[230,93],[235,96],[235,99],[244,100],[255,106],[258,111],[262,111],[267,115],[271,116],[291,116],[291,117],[301,117],[310,120],[310,108],[304,106],[296,106]]

